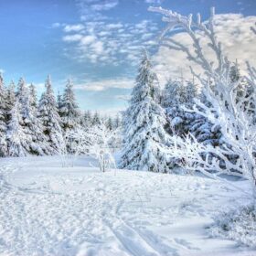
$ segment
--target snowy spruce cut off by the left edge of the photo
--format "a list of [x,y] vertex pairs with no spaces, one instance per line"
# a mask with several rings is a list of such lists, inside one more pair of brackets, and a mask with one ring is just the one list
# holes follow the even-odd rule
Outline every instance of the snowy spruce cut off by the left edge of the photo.
[[7,154],[7,145],[5,142],[6,133],[6,95],[4,79],[0,74],[0,157]]

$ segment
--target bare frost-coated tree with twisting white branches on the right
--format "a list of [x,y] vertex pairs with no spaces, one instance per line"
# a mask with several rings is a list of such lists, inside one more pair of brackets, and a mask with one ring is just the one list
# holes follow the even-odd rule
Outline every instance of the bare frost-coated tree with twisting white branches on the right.
[[[241,93],[238,97],[240,80],[230,79],[230,62],[223,54],[214,31],[214,8],[207,23],[201,21],[200,15],[197,15],[197,21],[194,21],[192,15],[181,16],[159,7],[150,9],[162,14],[163,19],[168,23],[162,35],[165,46],[185,52],[189,60],[204,69],[204,76],[199,76],[193,69],[191,70],[202,84],[203,92],[211,106],[208,107],[204,102],[196,100],[193,111],[208,118],[213,123],[213,127],[219,126],[225,143],[229,145],[213,147],[209,144],[199,144],[190,135],[186,140],[174,138],[175,146],[171,149],[172,154],[183,157],[184,162],[189,163],[187,166],[192,169],[199,169],[202,172],[214,170],[215,176],[225,173],[248,178],[256,203],[256,125],[251,112],[251,107],[255,108],[256,101],[256,69],[248,65],[248,75],[245,77],[253,93],[250,95]],[[174,27],[187,32],[193,42],[193,48],[187,48],[173,37],[166,37]],[[215,61],[204,54],[204,46],[199,39],[202,36],[208,40],[207,47],[215,54]],[[202,153],[217,157],[213,159],[208,155],[204,157]],[[227,155],[237,155],[238,158],[232,163]],[[219,159],[224,161],[224,168],[220,166]]]

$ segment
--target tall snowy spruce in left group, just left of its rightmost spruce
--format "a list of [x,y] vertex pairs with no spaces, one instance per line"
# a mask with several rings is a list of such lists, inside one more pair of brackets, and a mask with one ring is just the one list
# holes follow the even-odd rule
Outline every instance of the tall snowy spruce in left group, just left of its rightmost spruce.
[[46,91],[42,94],[38,105],[38,118],[43,125],[43,133],[47,136],[51,154],[59,153],[63,144],[62,130],[57,103],[52,90],[51,80],[46,80]]

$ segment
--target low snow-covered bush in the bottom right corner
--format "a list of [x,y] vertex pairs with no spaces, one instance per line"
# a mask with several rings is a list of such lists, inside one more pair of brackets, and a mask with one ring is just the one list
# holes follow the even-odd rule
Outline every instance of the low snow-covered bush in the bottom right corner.
[[221,213],[209,229],[211,237],[235,240],[256,248],[256,208],[253,205]]

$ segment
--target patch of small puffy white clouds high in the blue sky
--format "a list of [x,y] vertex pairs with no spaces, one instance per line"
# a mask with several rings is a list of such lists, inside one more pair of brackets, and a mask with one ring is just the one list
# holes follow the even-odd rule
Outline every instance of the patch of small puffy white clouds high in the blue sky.
[[100,65],[136,65],[141,49],[156,45],[156,30],[156,24],[146,19],[136,24],[88,21],[82,26],[66,25],[62,38],[69,43],[70,58]]

